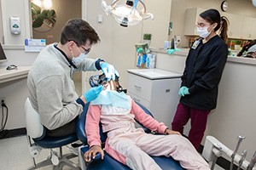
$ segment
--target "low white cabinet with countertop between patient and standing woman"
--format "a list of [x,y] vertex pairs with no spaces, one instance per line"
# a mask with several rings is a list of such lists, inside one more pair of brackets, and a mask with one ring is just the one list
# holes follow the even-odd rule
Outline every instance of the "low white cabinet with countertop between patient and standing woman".
[[151,111],[157,121],[171,127],[179,102],[180,77],[160,69],[128,70],[128,94]]

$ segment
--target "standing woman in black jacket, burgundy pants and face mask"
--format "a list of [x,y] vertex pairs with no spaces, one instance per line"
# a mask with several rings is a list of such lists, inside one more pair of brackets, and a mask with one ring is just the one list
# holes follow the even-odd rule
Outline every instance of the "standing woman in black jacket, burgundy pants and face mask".
[[183,133],[190,118],[189,140],[198,150],[207,127],[207,116],[217,104],[218,82],[228,56],[228,20],[211,8],[200,14],[196,27],[200,38],[193,43],[186,59],[178,90],[181,99],[172,130]]

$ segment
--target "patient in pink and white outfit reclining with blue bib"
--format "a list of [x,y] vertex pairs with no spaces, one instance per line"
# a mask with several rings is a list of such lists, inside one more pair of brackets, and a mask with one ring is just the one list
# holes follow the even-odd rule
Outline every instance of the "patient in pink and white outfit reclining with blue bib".
[[[84,154],[85,161],[97,153],[101,153],[103,159],[99,135],[99,122],[102,122],[103,132],[108,133],[106,152],[131,169],[161,169],[150,156],[172,156],[186,169],[210,169],[188,139],[154,120],[129,95],[120,92],[118,78],[107,81],[102,75],[96,82],[105,90],[90,102],[87,112],[85,132],[90,150]],[[145,133],[143,128],[135,127],[135,120],[160,135]]]

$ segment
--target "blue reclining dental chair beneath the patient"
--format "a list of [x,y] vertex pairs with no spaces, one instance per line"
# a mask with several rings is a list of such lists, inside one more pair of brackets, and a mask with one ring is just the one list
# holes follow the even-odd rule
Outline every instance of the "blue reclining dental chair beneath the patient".
[[[137,103],[137,105],[140,105]],[[148,115],[152,116],[151,113],[143,106],[140,105]],[[84,143],[83,146],[79,147],[79,161],[80,167],[82,170],[130,170],[130,167],[125,166],[119,161],[113,159],[112,156],[109,156],[108,153],[105,153],[104,159],[102,160],[100,154],[96,155],[96,158],[91,161],[90,163],[86,163],[84,161],[84,153],[89,150],[89,146],[87,144],[87,138],[85,134],[85,119],[86,113],[88,111],[89,104],[84,106],[83,113],[79,116],[78,123],[77,123],[77,135],[78,138]],[[146,133],[150,133],[150,130],[143,127]],[[100,126],[100,134],[102,143],[107,139],[107,134],[102,133],[102,128]],[[183,170],[183,167],[180,166],[178,161],[172,159],[172,157],[166,156],[152,156],[154,161],[163,169],[163,170]]]

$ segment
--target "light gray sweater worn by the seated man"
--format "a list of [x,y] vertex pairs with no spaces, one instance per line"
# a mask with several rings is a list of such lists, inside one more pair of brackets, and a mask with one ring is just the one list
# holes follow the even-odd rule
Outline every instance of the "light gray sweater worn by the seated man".
[[[96,60],[86,58],[76,71],[97,71]],[[83,111],[83,106],[76,102],[79,95],[70,76],[71,68],[65,56],[50,44],[38,54],[28,73],[32,107],[49,130],[71,122]]]

